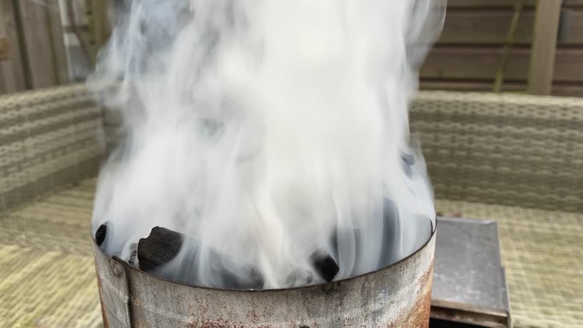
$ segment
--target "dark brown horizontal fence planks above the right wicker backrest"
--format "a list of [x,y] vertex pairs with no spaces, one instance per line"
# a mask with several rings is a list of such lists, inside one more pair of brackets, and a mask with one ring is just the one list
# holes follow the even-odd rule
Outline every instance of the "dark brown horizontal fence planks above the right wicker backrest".
[[[441,38],[420,72],[422,88],[492,90],[515,2],[449,0]],[[503,91],[526,90],[534,3],[527,0],[519,18]],[[562,8],[567,19],[564,38],[558,41],[552,94],[583,96],[583,0],[564,0]]]

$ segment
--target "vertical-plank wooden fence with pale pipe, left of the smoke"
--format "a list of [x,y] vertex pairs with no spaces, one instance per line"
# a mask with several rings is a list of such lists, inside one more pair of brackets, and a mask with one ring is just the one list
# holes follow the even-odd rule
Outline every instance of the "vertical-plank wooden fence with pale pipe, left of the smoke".
[[108,1],[0,0],[0,94],[85,79]]

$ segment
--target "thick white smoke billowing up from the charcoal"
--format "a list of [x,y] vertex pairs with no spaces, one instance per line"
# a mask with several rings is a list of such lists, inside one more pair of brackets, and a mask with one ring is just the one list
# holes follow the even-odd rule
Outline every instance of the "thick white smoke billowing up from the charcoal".
[[343,279],[427,241],[435,212],[408,105],[441,1],[133,0],[117,10],[90,83],[113,85],[102,100],[125,133],[94,206],[94,230],[111,223],[107,254],[127,258],[162,226],[192,241],[161,275],[220,287],[213,267],[242,279],[252,267],[263,288],[280,288],[318,282],[316,249]]

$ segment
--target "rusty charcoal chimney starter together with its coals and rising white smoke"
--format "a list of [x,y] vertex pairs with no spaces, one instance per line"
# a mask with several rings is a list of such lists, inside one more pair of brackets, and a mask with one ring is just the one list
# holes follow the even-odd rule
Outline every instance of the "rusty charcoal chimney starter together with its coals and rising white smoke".
[[428,327],[408,110],[444,1],[122,3],[88,83],[124,134],[92,218],[105,326]]

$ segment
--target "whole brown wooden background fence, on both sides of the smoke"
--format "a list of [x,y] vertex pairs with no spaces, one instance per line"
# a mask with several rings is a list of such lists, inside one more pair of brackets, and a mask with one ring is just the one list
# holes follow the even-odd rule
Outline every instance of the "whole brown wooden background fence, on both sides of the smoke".
[[[107,36],[109,1],[0,0],[0,94],[86,77]],[[514,3],[449,0],[441,38],[420,72],[422,89],[491,91]],[[526,0],[519,18],[503,91],[526,90],[535,3]],[[583,0],[564,0],[562,8],[552,94],[583,96]]]

